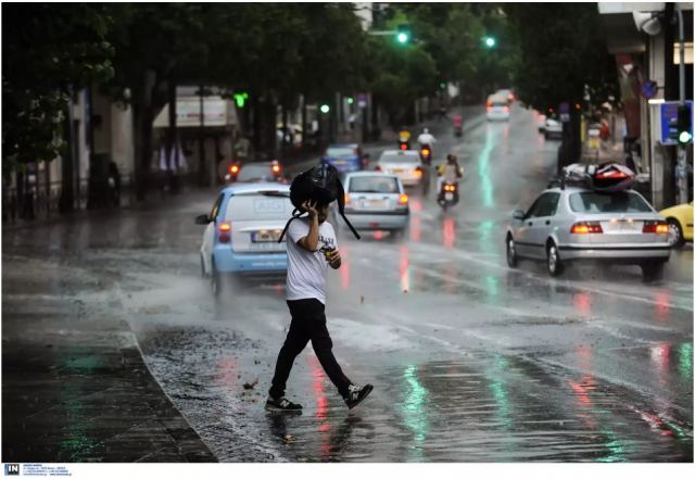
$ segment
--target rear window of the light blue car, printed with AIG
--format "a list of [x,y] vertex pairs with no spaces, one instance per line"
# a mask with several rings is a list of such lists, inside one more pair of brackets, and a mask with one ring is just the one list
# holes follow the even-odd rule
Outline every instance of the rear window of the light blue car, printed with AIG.
[[239,193],[229,199],[225,219],[228,222],[287,219],[292,214],[292,210],[287,192]]

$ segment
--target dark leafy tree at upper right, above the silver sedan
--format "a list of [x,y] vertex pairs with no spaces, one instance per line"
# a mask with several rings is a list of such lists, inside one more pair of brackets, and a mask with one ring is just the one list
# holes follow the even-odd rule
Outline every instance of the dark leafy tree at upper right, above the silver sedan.
[[558,167],[578,161],[581,112],[577,105],[587,106],[586,89],[594,92],[594,104],[611,94],[618,98],[615,60],[601,33],[596,4],[510,3],[504,11],[519,50],[514,75],[519,99],[540,111],[557,109],[563,102],[570,105]]

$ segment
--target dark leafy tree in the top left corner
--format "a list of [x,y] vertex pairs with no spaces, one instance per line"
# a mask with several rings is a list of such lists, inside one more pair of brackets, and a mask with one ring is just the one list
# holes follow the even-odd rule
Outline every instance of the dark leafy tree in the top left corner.
[[73,207],[73,157],[65,139],[71,97],[113,76],[112,27],[103,5],[2,5],[3,175],[63,157],[61,211]]

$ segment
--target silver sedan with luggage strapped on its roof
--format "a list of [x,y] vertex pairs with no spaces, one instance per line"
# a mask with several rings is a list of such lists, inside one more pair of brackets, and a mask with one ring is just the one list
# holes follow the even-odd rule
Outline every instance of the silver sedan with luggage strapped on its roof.
[[666,220],[635,191],[555,187],[528,212],[514,212],[507,264],[516,267],[519,257],[544,260],[551,276],[558,276],[566,262],[597,260],[640,265],[645,279],[655,279],[671,253],[668,234]]

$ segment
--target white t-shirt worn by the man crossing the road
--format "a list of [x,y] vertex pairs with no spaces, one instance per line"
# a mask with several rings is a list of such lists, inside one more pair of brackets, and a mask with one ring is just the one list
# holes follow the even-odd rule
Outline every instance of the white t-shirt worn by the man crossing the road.
[[296,244],[308,236],[309,219],[299,218],[290,223],[287,230],[287,299],[288,301],[316,299],[326,304],[326,274],[328,261],[325,248],[338,248],[333,226],[324,222],[318,225],[318,251],[312,253]]

